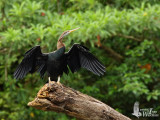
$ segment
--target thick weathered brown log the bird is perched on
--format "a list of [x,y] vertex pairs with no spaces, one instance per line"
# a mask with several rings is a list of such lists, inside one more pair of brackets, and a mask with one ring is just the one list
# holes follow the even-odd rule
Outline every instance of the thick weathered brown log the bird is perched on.
[[80,120],[131,120],[101,101],[56,82],[45,84],[28,106]]

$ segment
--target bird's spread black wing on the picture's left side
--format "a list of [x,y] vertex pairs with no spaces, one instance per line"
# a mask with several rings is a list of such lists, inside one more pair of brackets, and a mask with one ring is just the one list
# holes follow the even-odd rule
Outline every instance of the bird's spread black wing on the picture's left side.
[[40,46],[35,46],[25,53],[24,59],[14,72],[14,78],[22,79],[27,73],[34,73],[36,70],[43,77],[46,71],[47,54],[41,52]]

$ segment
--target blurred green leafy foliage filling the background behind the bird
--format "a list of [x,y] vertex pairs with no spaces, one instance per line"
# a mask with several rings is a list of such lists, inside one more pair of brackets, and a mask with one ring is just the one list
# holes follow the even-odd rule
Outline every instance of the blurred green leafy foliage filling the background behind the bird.
[[1,0],[0,11],[0,120],[75,120],[28,107],[48,79],[36,73],[16,81],[13,72],[27,50],[54,51],[60,34],[77,27],[67,50],[87,46],[106,74],[81,69],[61,82],[132,119],[136,101],[160,111],[159,0]]

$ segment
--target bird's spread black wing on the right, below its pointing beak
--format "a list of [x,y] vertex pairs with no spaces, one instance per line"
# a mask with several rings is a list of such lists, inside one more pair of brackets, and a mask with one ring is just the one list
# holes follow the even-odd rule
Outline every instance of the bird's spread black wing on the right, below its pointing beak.
[[79,70],[81,67],[85,68],[94,74],[100,76],[105,73],[105,66],[90,53],[89,49],[80,44],[74,44],[72,48],[66,53],[67,64],[72,73]]

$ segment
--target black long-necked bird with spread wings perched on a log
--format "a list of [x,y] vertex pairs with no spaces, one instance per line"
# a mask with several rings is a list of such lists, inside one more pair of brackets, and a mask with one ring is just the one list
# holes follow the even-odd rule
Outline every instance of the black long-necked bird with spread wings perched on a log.
[[63,73],[68,74],[68,66],[72,73],[85,68],[94,74],[100,76],[105,72],[105,66],[90,53],[89,49],[80,44],[74,44],[68,52],[65,53],[65,45],[62,42],[64,36],[79,28],[68,30],[62,33],[57,42],[57,50],[50,53],[42,53],[40,46],[35,46],[28,50],[22,62],[14,72],[14,78],[22,79],[27,73],[40,72],[43,78],[45,72],[50,81],[60,82],[60,76]]

